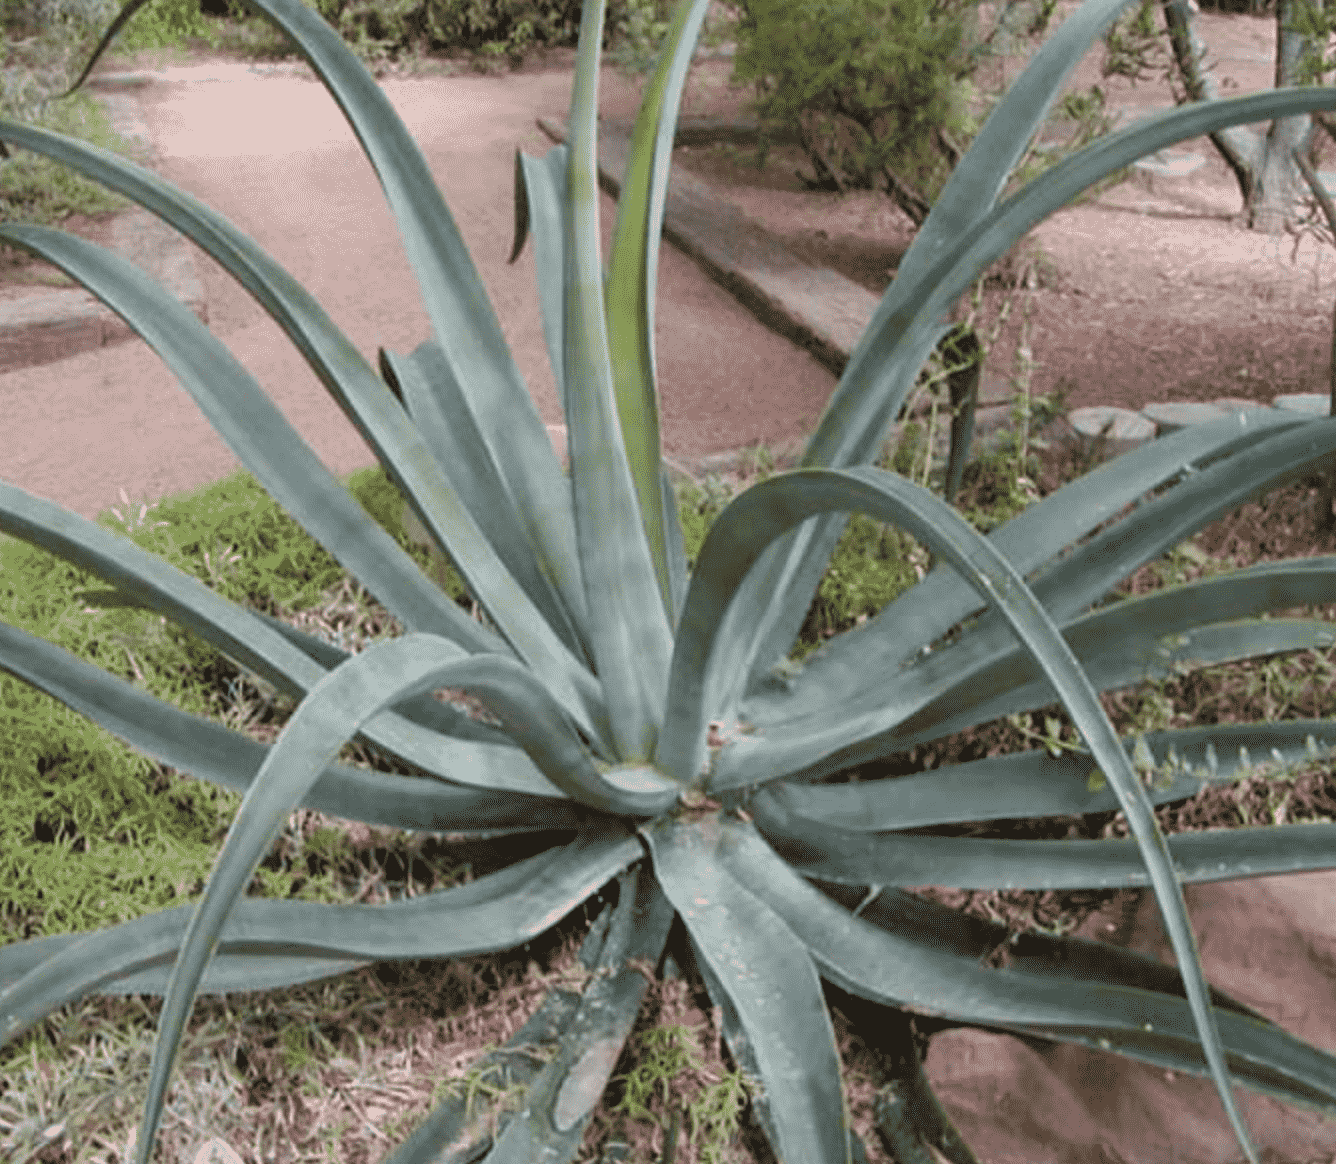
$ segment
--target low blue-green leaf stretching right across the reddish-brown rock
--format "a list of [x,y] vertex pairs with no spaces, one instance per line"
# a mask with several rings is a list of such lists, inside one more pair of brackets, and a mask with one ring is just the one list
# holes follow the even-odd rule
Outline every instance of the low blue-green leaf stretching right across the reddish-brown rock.
[[[1001,926],[990,927],[943,906],[927,909],[931,902],[895,891],[880,894],[855,915],[798,877],[755,834],[729,851],[724,863],[802,939],[822,977],[859,998],[970,1025],[1086,1042],[1165,1066],[1181,1065],[1196,1074],[1206,1070],[1194,1036],[1196,1009],[1184,1002],[1182,990],[1160,993],[1117,981],[1130,977],[1126,970],[1137,956],[1129,952],[1092,942],[1085,945],[1096,950],[1079,973],[1059,956],[1017,957],[997,970],[987,965],[990,954],[1002,946],[1019,949],[1006,941]],[[954,923],[947,914],[954,915]],[[991,946],[979,939],[997,930],[1002,933]],[[1054,943],[1045,945],[1054,949]],[[1070,941],[1057,945],[1063,952],[1081,949]],[[1104,968],[1101,950],[1109,952],[1109,965],[1117,969]],[[1168,966],[1148,978],[1164,982],[1169,974],[1178,978]],[[1218,992],[1212,997],[1212,1014],[1237,1082],[1336,1113],[1336,1056],[1309,1046]]]

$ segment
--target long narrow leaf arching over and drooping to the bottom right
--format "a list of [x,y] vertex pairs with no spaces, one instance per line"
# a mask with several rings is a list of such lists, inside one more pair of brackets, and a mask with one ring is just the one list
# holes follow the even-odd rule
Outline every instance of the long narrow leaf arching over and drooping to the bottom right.
[[1145,790],[1132,771],[1096,691],[1053,620],[1015,568],[946,502],[894,473],[870,468],[786,473],[733,500],[711,527],[687,592],[669,679],[659,766],[679,778],[699,771],[708,718],[701,706],[703,672],[736,666],[737,659],[732,643],[716,643],[723,612],[737,593],[747,571],[771,541],[811,515],[830,509],[866,512],[878,520],[894,521],[925,543],[1006,617],[1015,636],[1043,667],[1077,731],[1113,784],[1118,806],[1136,835],[1170,943],[1180,966],[1185,968],[1188,998],[1212,1078],[1234,1135],[1252,1159],[1255,1153],[1248,1132],[1229,1092],[1220,1033],[1206,1005],[1206,986],[1196,938],[1188,923],[1182,887],[1174,877],[1165,838]]

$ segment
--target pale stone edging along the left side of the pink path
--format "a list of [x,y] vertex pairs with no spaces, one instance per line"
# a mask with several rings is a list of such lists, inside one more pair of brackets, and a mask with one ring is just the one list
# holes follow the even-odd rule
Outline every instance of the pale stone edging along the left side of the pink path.
[[[90,86],[100,82],[94,78]],[[139,103],[127,92],[132,87],[114,83],[112,88],[102,95],[112,127],[151,164],[152,139]],[[208,322],[190,245],[162,219],[139,207],[128,210],[112,222],[110,245],[184,302],[202,323]],[[39,290],[0,303],[0,373],[132,338],[135,333],[115,311],[80,287]]]

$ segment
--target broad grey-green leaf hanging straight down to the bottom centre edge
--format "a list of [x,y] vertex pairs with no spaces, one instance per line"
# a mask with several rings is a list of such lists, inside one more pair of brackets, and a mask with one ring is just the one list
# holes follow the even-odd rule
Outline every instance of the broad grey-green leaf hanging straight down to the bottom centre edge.
[[[732,1001],[760,1072],[780,1160],[848,1164],[839,1050],[820,980],[794,931],[728,874],[755,831],[725,817],[641,829],[655,875]],[[759,842],[758,843],[763,843]]]

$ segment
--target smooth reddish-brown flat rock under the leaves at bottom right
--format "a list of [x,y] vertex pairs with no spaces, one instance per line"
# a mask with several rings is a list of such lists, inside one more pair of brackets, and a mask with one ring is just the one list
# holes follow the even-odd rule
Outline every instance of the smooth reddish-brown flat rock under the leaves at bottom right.
[[[1336,1050],[1332,952],[1336,874],[1301,873],[1184,886],[1212,985],[1320,1050]],[[1093,937],[1086,926],[1078,931]],[[1152,894],[1128,946],[1172,964]],[[981,1160],[990,1164],[1234,1164],[1241,1157],[1208,1078],[1069,1044],[946,1030],[925,1070]],[[1336,1121],[1246,1088],[1234,1097],[1267,1160],[1325,1161]]]

